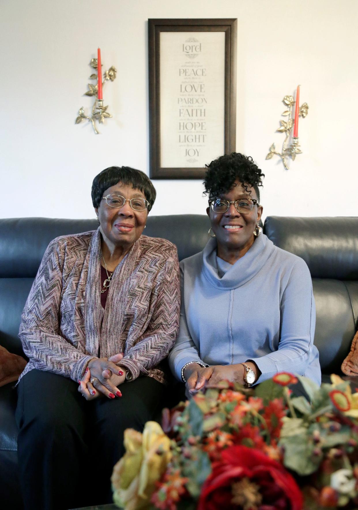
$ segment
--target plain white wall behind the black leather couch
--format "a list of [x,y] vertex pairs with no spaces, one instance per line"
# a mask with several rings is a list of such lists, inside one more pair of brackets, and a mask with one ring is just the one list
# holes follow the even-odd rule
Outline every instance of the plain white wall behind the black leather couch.
[[[0,217],[89,218],[93,177],[109,165],[148,173],[148,18],[237,18],[237,145],[266,174],[264,216],[356,216],[356,0],[2,0]],[[117,79],[104,88],[113,119],[94,135],[75,125],[102,50]],[[304,154],[286,171],[265,161],[301,85]],[[205,214],[201,181],[155,181],[152,214]],[[16,197],[16,198],[15,198]]]

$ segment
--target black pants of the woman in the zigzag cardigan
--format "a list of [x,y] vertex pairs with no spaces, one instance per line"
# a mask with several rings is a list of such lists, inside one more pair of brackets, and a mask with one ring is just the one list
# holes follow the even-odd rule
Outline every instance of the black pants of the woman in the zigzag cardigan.
[[126,428],[158,415],[164,387],[152,377],[121,385],[123,397],[82,398],[78,385],[32,370],[19,382],[20,486],[26,510],[68,510],[112,502],[111,474]]

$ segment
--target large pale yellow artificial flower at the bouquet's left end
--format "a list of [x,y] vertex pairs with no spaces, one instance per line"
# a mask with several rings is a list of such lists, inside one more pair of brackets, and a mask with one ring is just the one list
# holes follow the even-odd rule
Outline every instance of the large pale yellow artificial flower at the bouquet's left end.
[[150,506],[156,482],[166,471],[172,458],[171,441],[155,421],[148,421],[143,435],[127,428],[124,432],[126,453],[112,474],[113,499],[124,510],[140,510]]

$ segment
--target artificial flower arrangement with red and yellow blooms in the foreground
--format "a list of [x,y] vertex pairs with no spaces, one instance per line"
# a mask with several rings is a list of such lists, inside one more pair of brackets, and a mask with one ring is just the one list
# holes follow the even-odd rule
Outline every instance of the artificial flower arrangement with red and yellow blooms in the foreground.
[[[295,397],[297,378],[306,390]],[[125,431],[114,501],[125,510],[358,508],[358,390],[281,372],[222,381]]]

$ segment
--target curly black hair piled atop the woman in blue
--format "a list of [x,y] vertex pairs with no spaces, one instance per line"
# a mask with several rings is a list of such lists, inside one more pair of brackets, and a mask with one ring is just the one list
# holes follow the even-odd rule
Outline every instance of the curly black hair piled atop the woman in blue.
[[240,181],[246,191],[249,187],[254,188],[260,203],[259,186],[262,186],[262,178],[265,174],[261,172],[251,156],[232,152],[220,156],[205,166],[207,170],[203,182],[204,195],[209,194],[209,199],[227,193],[235,181]]

